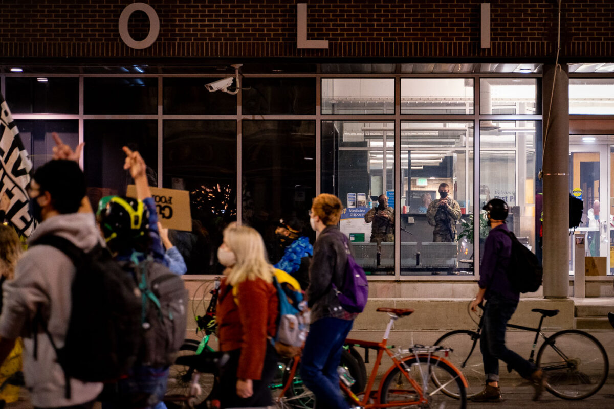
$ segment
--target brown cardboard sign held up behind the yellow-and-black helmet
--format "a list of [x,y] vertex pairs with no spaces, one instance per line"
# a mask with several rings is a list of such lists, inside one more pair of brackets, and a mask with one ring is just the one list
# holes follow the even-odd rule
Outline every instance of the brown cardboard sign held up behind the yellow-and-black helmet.
[[[150,188],[158,220],[163,227],[173,230],[192,231],[190,193],[187,190]],[[136,187],[128,185],[126,196],[136,197]]]

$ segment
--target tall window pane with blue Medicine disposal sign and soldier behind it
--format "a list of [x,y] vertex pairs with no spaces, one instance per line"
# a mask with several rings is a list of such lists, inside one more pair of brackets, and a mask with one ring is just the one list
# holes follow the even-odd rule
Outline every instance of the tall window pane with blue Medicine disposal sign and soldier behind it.
[[394,274],[394,122],[322,121],[322,192],[341,199],[357,262]]

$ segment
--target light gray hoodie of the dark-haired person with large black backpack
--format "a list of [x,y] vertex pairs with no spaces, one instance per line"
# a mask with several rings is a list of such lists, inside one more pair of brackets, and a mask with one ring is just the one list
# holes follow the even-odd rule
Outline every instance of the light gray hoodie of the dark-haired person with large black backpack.
[[[71,240],[77,247],[90,250],[102,242],[91,213],[52,216],[37,227],[30,237],[55,234]],[[64,345],[71,313],[71,283],[76,272],[71,260],[56,248],[32,247],[17,263],[15,279],[4,284],[4,305],[0,316],[0,336],[23,336],[23,372],[35,407],[53,408],[89,402],[102,391],[101,383],[83,383],[71,379],[71,399],[66,399],[64,372],[44,333],[37,335],[38,356],[33,356],[31,323],[37,310],[48,317],[47,326],[58,348]],[[92,351],[93,354],[96,351]]]

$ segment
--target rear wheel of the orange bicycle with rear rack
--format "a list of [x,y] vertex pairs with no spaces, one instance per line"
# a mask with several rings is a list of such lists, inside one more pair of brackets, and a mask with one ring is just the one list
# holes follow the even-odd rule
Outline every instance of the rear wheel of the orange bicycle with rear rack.
[[[412,355],[403,359],[409,367],[408,374],[422,391],[427,402],[420,405],[419,393],[410,380],[395,367],[388,373],[382,383],[379,403],[398,403],[404,407],[434,408],[434,409],[465,409],[467,407],[467,391],[462,380],[462,374],[436,356]],[[437,379],[434,382],[433,379]],[[444,393],[443,388],[452,393]],[[453,396],[457,397],[453,397]]]

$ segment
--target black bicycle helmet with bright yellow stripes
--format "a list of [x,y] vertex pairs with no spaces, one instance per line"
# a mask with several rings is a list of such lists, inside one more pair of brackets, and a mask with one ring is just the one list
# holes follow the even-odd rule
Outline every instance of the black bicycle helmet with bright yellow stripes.
[[149,230],[149,211],[133,197],[103,197],[98,202],[96,220],[108,244],[139,239]]

